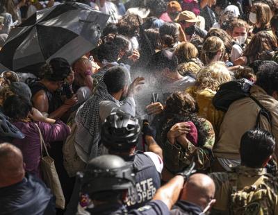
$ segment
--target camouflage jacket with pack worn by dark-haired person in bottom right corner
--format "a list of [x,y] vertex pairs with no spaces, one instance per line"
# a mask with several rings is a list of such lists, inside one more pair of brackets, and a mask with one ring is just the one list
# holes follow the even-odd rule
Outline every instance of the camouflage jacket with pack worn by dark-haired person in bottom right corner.
[[216,188],[211,214],[278,214],[278,180],[266,169],[238,166],[210,176]]

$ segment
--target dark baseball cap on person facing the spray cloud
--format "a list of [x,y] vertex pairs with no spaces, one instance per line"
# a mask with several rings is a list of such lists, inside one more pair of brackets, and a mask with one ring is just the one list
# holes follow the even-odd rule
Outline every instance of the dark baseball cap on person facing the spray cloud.
[[171,51],[165,49],[152,55],[152,58],[149,61],[148,69],[151,71],[156,71],[169,68],[171,71],[175,71],[178,65],[179,63],[177,56]]

